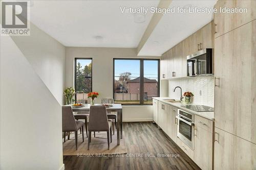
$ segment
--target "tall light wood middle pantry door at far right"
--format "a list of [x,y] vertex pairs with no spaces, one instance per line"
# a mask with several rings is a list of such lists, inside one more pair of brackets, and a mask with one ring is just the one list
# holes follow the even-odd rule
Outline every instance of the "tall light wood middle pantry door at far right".
[[256,20],[215,39],[215,126],[256,143]]

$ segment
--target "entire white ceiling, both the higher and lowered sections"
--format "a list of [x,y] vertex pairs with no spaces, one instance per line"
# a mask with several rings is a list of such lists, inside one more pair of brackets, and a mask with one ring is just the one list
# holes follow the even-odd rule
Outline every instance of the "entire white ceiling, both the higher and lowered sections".
[[[159,1],[32,1],[31,21],[65,46],[137,47],[153,13],[136,23],[120,7],[157,7]],[[173,7],[213,7],[217,0],[174,0]],[[139,56],[161,56],[169,48],[212,20],[213,14],[163,15]],[[103,39],[95,38],[102,36]],[[159,43],[156,43],[159,42]]]

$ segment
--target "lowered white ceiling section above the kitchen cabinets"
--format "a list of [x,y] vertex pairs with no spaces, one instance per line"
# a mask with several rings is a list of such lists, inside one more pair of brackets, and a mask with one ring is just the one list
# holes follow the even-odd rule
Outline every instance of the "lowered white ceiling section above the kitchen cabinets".
[[[188,6],[211,8],[217,0],[173,1],[169,8]],[[139,52],[139,56],[161,56],[192,33],[199,30],[213,19],[213,14],[203,13],[168,13],[163,15],[151,36]],[[158,41],[159,43],[156,43]]]

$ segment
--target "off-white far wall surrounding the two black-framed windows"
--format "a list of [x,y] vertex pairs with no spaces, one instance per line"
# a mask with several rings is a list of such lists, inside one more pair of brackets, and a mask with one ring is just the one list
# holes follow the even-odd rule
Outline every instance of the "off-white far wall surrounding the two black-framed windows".
[[[136,53],[136,48],[66,47],[65,87],[74,87],[74,59],[93,58],[92,90],[100,93],[96,102],[100,103],[102,98],[113,98],[113,58],[141,58],[137,57]],[[152,106],[123,108],[124,122],[149,121],[152,120],[152,115]]]

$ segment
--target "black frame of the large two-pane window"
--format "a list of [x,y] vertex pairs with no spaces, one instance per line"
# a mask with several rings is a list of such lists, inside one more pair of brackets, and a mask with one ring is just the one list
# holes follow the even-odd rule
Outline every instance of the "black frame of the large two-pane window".
[[[146,60],[152,60],[152,61],[158,61],[158,97],[160,96],[160,59],[156,58],[113,58],[113,99],[115,102],[115,60],[139,60],[140,61],[140,103],[139,104],[122,104],[125,106],[152,106],[153,104],[144,104],[144,61]],[[143,95],[141,95],[143,94]]]

